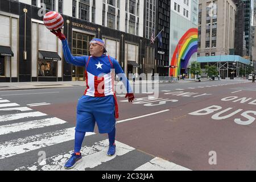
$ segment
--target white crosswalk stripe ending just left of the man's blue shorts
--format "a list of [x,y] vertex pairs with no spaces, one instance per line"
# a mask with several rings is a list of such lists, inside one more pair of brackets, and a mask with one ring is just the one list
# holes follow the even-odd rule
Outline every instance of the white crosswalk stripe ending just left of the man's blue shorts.
[[39,129],[42,127],[53,126],[53,125],[61,125],[64,123],[66,122],[59,118],[47,118],[47,119],[27,121],[22,123],[14,123],[11,125],[3,125],[3,126],[0,126],[0,135],[15,133],[19,131],[25,131],[25,130],[31,130],[31,129]]

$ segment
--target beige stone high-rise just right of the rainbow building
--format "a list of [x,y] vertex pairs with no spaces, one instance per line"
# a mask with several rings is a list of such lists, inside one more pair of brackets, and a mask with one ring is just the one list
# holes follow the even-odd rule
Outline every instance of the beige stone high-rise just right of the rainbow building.
[[232,54],[236,10],[232,0],[199,1],[198,56]]

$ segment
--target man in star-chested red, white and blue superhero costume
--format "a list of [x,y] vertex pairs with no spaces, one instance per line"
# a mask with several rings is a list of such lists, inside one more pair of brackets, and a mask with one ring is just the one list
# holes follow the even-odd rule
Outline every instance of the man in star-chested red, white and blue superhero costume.
[[134,100],[133,90],[117,60],[105,53],[105,44],[101,39],[90,41],[91,56],[73,56],[65,35],[61,30],[51,31],[63,43],[63,53],[67,63],[85,67],[86,89],[77,104],[75,129],[75,152],[65,163],[71,169],[82,161],[81,146],[86,132],[93,132],[97,122],[101,134],[108,133],[109,150],[107,155],[115,154],[115,119],[118,118],[117,97],[114,91],[115,73],[122,77],[129,102]]

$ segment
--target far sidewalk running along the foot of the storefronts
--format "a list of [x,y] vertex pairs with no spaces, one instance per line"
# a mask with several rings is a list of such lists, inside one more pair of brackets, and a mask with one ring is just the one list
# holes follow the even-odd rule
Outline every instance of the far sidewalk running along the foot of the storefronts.
[[[193,79],[194,80],[194,79]],[[209,81],[209,80],[208,80]],[[159,84],[173,84],[173,83],[188,83],[195,82],[191,79],[180,80],[179,82],[159,82]],[[121,81],[115,81],[115,85],[122,84]],[[135,81],[131,80],[131,85],[147,84],[146,80]],[[58,81],[58,82],[2,82],[0,83],[0,90],[27,90],[27,89],[45,89],[45,88],[69,88],[75,86],[85,86],[85,81]]]

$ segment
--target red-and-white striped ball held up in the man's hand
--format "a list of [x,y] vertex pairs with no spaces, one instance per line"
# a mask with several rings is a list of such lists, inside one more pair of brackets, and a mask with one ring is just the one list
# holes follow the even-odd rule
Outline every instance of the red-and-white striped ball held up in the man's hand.
[[64,26],[64,20],[61,14],[55,11],[49,11],[44,15],[44,25],[49,30],[58,30]]

